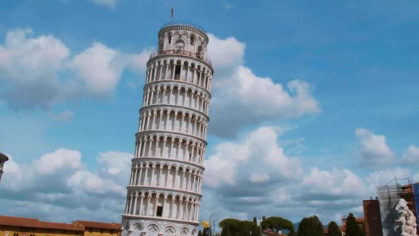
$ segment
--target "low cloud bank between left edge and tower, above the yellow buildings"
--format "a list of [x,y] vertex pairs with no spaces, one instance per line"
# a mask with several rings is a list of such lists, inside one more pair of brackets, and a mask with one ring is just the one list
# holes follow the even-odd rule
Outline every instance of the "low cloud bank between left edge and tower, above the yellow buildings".
[[[34,217],[36,212],[42,219],[63,222],[80,217],[119,221],[129,175],[121,173],[130,169],[131,158],[121,152],[100,153],[96,159],[99,170],[91,171],[79,151],[65,148],[34,159],[32,164],[18,164],[11,157],[0,186],[0,206],[8,206],[2,207],[6,209],[3,214]],[[120,164],[114,168],[120,170],[111,169],[116,159]]]

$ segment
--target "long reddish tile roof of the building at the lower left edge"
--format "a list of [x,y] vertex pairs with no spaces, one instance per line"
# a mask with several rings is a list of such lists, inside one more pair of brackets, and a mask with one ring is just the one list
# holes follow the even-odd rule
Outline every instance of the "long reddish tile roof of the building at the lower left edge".
[[48,229],[59,229],[59,230],[75,230],[83,231],[83,227],[65,223],[54,223],[54,222],[41,222],[39,219],[34,218],[23,218],[23,217],[10,217],[0,215],[1,226],[19,226],[27,228],[48,228]]

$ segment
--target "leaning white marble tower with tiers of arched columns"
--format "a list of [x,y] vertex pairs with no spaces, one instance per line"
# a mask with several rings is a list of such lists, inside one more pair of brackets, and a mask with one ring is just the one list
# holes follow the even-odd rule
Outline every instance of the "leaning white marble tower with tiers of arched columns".
[[147,61],[123,235],[198,235],[214,70],[205,30],[161,27]]

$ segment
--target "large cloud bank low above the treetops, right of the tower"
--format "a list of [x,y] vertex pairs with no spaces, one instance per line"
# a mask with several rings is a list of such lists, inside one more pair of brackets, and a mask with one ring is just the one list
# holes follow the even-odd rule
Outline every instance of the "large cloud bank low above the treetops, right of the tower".
[[304,171],[300,159],[278,145],[282,132],[261,127],[215,147],[205,160],[203,194],[210,197],[203,198],[202,214],[216,213],[220,219],[281,215],[295,222],[314,214],[327,221],[337,213],[361,215],[361,200],[374,193],[371,184],[347,169]]

